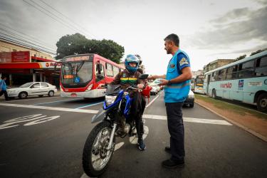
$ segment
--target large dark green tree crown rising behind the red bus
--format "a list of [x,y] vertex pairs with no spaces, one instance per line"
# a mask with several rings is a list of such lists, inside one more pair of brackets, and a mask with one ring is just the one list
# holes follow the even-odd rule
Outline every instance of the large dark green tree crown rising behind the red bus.
[[115,63],[120,63],[120,59],[125,52],[124,47],[115,41],[105,39],[102,41],[89,40],[80,33],[62,36],[56,46],[58,47],[56,59],[75,54],[96,53]]

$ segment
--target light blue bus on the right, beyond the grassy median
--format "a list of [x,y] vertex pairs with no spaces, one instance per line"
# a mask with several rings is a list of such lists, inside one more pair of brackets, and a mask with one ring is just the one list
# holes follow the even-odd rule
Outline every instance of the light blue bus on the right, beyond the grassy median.
[[267,111],[267,51],[208,71],[204,77],[206,95],[239,100]]

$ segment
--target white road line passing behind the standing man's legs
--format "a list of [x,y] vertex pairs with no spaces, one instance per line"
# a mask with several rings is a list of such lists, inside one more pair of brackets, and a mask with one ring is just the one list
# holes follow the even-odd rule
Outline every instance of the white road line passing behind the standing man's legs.
[[[145,119],[153,119],[153,120],[167,120],[167,116],[164,115],[143,115]],[[231,123],[226,120],[207,120],[200,118],[192,118],[192,117],[183,117],[184,122],[196,122],[196,123],[204,123],[204,124],[216,124],[216,125],[231,125]]]

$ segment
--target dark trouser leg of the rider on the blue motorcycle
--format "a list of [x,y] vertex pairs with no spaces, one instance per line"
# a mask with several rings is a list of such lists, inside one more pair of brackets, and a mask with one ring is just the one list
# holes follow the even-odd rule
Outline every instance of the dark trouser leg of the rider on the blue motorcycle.
[[144,134],[144,123],[142,122],[142,95],[138,92],[133,93],[130,117],[135,120],[138,138]]

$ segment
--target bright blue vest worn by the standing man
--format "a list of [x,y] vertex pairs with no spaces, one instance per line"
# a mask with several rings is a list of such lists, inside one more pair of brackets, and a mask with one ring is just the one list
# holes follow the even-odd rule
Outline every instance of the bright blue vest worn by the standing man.
[[[181,75],[181,72],[179,71],[179,62],[177,61],[178,54],[183,53],[185,56],[187,56],[187,53],[184,51],[178,50],[172,59],[169,61],[168,67],[167,67],[167,75],[166,80],[171,80],[173,78],[177,78],[179,75]],[[187,56],[187,60],[189,63],[189,57]],[[166,85],[164,88],[164,101],[165,103],[177,103],[177,102],[183,102],[187,99],[187,95],[190,90],[190,80],[186,80],[182,83],[172,83],[171,85]]]

